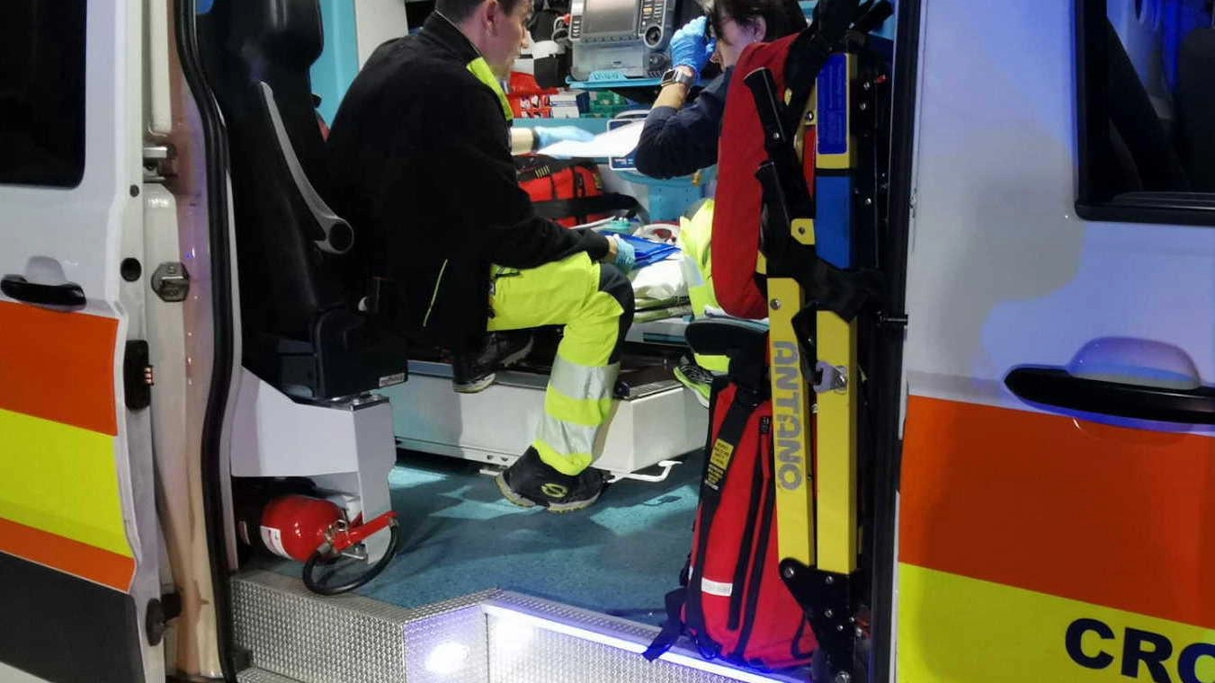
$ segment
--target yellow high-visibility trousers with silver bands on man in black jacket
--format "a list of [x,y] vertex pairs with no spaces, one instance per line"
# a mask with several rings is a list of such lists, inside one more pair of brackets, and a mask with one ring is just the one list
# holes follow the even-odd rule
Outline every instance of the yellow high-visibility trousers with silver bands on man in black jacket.
[[532,446],[558,472],[590,466],[612,410],[633,286],[618,268],[576,254],[538,268],[495,266],[490,331],[565,325]]

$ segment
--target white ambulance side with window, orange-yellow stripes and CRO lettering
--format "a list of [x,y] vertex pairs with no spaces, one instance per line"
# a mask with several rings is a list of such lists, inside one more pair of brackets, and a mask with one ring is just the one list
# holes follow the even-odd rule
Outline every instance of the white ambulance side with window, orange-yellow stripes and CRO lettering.
[[1115,1],[919,2],[898,681],[1215,681],[1215,41]]

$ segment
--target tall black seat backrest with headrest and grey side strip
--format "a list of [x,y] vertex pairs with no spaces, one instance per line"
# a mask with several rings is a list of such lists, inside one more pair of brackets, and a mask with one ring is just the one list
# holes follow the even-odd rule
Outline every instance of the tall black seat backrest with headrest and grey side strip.
[[247,348],[260,335],[307,340],[318,313],[351,296],[315,244],[323,226],[301,190],[328,190],[309,78],[322,47],[318,0],[216,0],[199,29],[231,149]]

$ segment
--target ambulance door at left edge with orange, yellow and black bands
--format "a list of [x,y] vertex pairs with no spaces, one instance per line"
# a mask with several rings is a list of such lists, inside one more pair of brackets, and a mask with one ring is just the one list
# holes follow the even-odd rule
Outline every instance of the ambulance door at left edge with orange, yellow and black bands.
[[[141,4],[0,22],[0,678],[164,681]],[[125,381],[124,381],[125,380]],[[125,386],[124,386],[125,385]]]

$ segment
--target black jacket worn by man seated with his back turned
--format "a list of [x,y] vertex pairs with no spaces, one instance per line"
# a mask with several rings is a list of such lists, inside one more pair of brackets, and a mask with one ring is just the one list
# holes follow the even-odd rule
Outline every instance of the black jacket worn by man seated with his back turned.
[[485,334],[491,263],[532,268],[608,252],[603,235],[536,216],[516,182],[502,104],[468,69],[477,57],[433,13],[417,35],[375,50],[328,140],[330,201],[356,234],[351,283],[388,278],[397,325],[454,349]]

